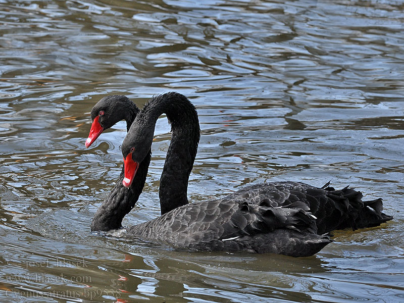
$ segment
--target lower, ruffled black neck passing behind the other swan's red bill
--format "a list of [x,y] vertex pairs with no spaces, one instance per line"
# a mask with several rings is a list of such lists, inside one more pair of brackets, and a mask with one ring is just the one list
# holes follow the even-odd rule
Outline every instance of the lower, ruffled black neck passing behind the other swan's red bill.
[[[139,110],[130,102],[120,106],[116,116],[119,120],[126,120],[126,127],[129,130]],[[121,114],[121,115],[119,115]],[[119,117],[121,116],[121,117]],[[121,119],[120,119],[121,118]],[[98,208],[91,222],[91,231],[111,230],[122,227],[123,218],[135,206],[146,181],[147,170],[150,164],[151,150],[145,159],[140,163],[136,176],[129,188],[122,184],[124,169],[112,191],[109,193],[103,204]]]

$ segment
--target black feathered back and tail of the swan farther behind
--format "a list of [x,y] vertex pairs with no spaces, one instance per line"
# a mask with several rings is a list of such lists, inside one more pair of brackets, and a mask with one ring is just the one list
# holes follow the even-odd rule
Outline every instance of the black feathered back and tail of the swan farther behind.
[[336,190],[329,183],[318,188],[299,182],[269,182],[244,187],[225,199],[244,198],[251,203],[273,207],[301,208],[316,217],[317,233],[335,229],[378,226],[393,217],[382,213],[382,199],[363,201],[360,191],[349,188]]

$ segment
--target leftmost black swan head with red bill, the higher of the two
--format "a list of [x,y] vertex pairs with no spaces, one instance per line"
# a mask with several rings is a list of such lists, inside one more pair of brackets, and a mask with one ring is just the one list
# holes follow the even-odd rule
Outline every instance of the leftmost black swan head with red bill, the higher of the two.
[[[92,125],[85,147],[89,147],[106,129],[121,120],[132,123],[139,112],[132,100],[122,95],[111,95],[100,99],[91,110]],[[132,121],[130,121],[132,120]]]

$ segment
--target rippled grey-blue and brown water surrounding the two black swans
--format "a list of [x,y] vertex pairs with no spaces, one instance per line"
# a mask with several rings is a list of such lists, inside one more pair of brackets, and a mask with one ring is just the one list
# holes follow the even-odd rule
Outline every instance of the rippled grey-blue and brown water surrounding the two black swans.
[[[197,3],[197,4],[196,4]],[[401,1],[0,1],[2,302],[404,300]],[[86,150],[107,94],[178,91],[201,140],[190,200],[245,184],[350,184],[394,220],[316,256],[184,252],[90,232],[123,122]],[[170,133],[125,225],[160,214]]]

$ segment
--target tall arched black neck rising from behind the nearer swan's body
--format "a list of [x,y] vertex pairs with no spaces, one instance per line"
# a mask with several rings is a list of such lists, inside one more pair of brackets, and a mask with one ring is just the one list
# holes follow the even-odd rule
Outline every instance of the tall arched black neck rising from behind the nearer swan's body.
[[153,129],[162,114],[167,115],[172,131],[160,178],[159,196],[163,215],[188,204],[188,178],[196,157],[200,129],[195,107],[182,94],[169,92],[153,97],[140,113],[147,116],[147,124],[153,125]]

